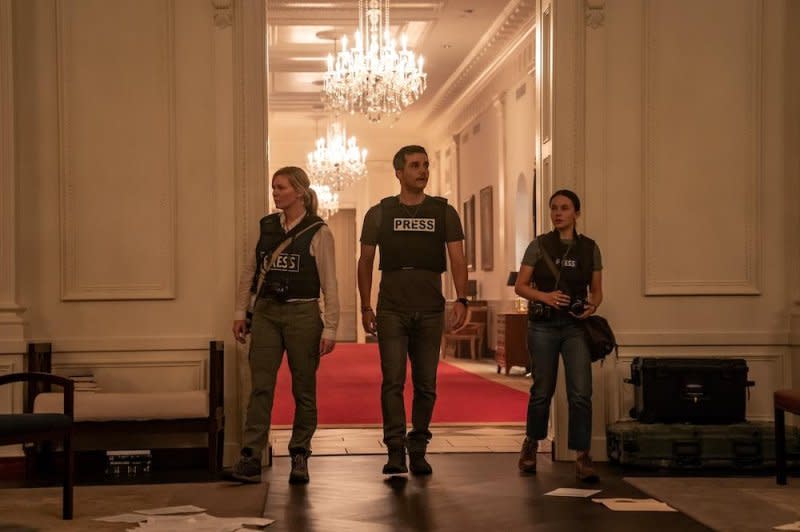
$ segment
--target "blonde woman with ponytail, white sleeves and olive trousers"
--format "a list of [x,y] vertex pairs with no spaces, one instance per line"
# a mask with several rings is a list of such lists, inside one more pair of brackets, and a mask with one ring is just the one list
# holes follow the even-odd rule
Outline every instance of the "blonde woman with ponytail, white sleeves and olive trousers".
[[[275,381],[285,351],[295,402],[289,482],[300,484],[309,479],[307,460],[317,427],[319,359],[333,350],[339,322],[333,234],[317,216],[317,196],[301,168],[287,166],[275,172],[272,198],[281,212],[261,219],[255,253],[239,280],[233,334],[244,343],[252,333],[252,392],[241,457],[227,476],[261,481],[261,453],[268,441]],[[322,318],[320,292],[325,296]],[[245,313],[253,294],[256,303],[248,330]]]

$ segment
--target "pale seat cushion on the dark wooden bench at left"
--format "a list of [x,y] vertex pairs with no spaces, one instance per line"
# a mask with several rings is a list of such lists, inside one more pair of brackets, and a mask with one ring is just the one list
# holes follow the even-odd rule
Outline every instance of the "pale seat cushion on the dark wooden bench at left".
[[[40,393],[35,413],[64,412],[64,395]],[[75,394],[75,421],[129,421],[148,419],[196,419],[208,417],[208,392]]]

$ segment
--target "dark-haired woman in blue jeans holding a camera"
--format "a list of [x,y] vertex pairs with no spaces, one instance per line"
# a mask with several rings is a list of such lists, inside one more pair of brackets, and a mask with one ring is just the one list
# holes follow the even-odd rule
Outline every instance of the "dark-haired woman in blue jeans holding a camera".
[[519,469],[536,472],[536,450],[539,440],[547,436],[561,353],[569,403],[568,446],[577,452],[578,479],[593,482],[597,474],[589,454],[592,361],[579,320],[594,314],[603,301],[603,265],[595,241],[575,229],[580,214],[580,199],[571,190],[558,190],[550,197],[554,229],[530,243],[514,286],[528,300],[528,351],[533,367]]

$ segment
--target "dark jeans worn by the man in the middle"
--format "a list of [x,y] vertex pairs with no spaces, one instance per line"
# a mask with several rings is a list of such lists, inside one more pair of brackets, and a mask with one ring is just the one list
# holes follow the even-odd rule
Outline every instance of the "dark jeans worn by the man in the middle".
[[406,409],[403,387],[406,360],[411,361],[414,400],[409,452],[425,452],[431,439],[429,425],[436,402],[436,370],[444,327],[443,312],[400,312],[378,309],[378,347],[381,352],[381,411],[383,442],[387,447],[406,445]]

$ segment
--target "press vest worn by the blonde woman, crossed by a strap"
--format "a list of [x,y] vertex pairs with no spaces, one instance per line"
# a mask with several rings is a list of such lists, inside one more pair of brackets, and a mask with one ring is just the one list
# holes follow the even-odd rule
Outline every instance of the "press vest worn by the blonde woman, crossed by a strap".
[[[288,233],[281,226],[280,214],[270,214],[261,219],[261,236],[256,245],[256,273],[250,291],[255,293],[258,275],[264,261],[269,261],[273,250],[292,235],[303,231],[309,225],[322,221],[319,216],[306,215]],[[303,232],[283,250],[267,272],[263,286],[270,282],[286,283],[286,299],[314,299],[319,297],[320,283],[317,261],[311,255],[311,239],[319,231],[318,225]],[[264,296],[264,289],[260,296]]]

